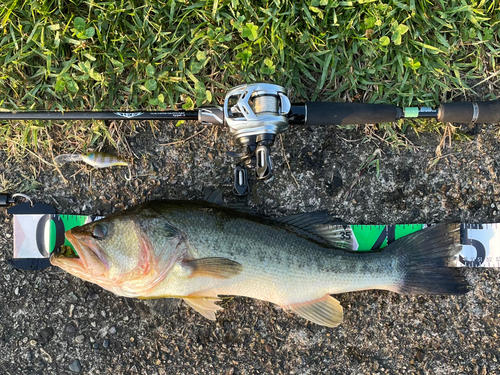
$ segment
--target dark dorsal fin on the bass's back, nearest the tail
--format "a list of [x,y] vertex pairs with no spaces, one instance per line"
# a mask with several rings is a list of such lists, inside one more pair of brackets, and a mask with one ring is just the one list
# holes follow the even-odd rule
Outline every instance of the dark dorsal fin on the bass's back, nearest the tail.
[[274,219],[293,229],[297,234],[307,236],[325,245],[339,249],[352,250],[353,234],[350,228],[342,223],[331,223],[328,211],[306,212]]

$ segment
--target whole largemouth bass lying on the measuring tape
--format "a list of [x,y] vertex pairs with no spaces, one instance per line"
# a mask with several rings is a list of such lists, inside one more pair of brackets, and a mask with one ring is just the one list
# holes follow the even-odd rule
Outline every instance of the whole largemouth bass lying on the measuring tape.
[[459,227],[441,224],[378,252],[348,251],[325,212],[266,219],[201,201],[151,201],[66,232],[78,256],[51,263],[125,297],[182,298],[208,319],[221,295],[275,303],[316,324],[343,320],[330,296],[383,289],[463,294],[449,268]]

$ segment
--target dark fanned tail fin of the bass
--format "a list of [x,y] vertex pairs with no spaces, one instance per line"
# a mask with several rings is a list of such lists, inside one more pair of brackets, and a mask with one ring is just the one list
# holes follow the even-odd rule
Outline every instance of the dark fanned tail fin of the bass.
[[401,294],[465,294],[470,290],[465,277],[450,268],[460,245],[459,224],[439,224],[403,237],[391,245],[401,259]]

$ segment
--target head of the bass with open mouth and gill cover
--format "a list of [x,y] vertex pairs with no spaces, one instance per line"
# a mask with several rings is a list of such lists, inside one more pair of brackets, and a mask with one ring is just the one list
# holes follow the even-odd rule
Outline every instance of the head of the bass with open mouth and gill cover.
[[169,263],[171,258],[168,250],[175,251],[179,241],[172,233],[170,237],[164,236],[166,242],[161,244],[164,251],[158,254],[143,224],[122,215],[75,227],[66,232],[66,238],[76,254],[54,253],[50,261],[116,294],[144,295],[159,280],[160,268],[165,268],[165,261]]

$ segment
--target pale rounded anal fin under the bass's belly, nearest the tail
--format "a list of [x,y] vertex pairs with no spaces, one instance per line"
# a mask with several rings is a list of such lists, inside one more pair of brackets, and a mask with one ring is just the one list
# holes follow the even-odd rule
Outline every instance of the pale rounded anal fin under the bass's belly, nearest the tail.
[[336,327],[344,320],[342,306],[330,295],[313,301],[294,303],[288,308],[297,315],[326,327]]

